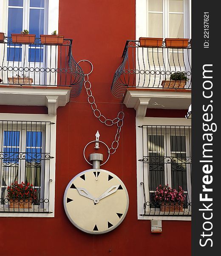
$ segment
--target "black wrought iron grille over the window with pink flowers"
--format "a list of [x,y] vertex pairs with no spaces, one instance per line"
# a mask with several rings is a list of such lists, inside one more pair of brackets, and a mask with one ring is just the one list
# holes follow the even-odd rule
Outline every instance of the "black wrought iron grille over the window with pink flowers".
[[[191,215],[191,127],[139,127],[143,133],[143,157],[139,161],[143,163],[140,184],[144,198],[140,215]],[[163,192],[164,185],[172,194]]]

